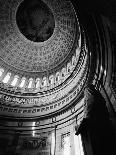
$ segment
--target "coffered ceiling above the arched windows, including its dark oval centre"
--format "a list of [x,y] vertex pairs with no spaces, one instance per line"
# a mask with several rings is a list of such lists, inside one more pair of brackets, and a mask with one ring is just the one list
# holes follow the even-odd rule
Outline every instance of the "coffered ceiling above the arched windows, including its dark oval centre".
[[72,52],[76,20],[67,0],[0,0],[0,63],[29,73],[56,68]]

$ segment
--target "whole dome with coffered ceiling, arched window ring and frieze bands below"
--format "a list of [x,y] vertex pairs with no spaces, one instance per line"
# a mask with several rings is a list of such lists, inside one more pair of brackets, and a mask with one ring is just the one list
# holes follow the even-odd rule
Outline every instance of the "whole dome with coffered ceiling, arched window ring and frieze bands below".
[[86,38],[71,1],[0,2],[1,114],[30,118],[63,109],[88,72]]

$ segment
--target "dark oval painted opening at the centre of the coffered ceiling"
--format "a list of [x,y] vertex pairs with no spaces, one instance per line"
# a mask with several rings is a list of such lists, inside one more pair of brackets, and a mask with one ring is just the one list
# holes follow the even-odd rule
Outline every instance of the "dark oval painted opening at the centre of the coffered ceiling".
[[20,3],[16,22],[20,32],[33,42],[48,40],[55,27],[51,9],[41,0],[24,0]]

